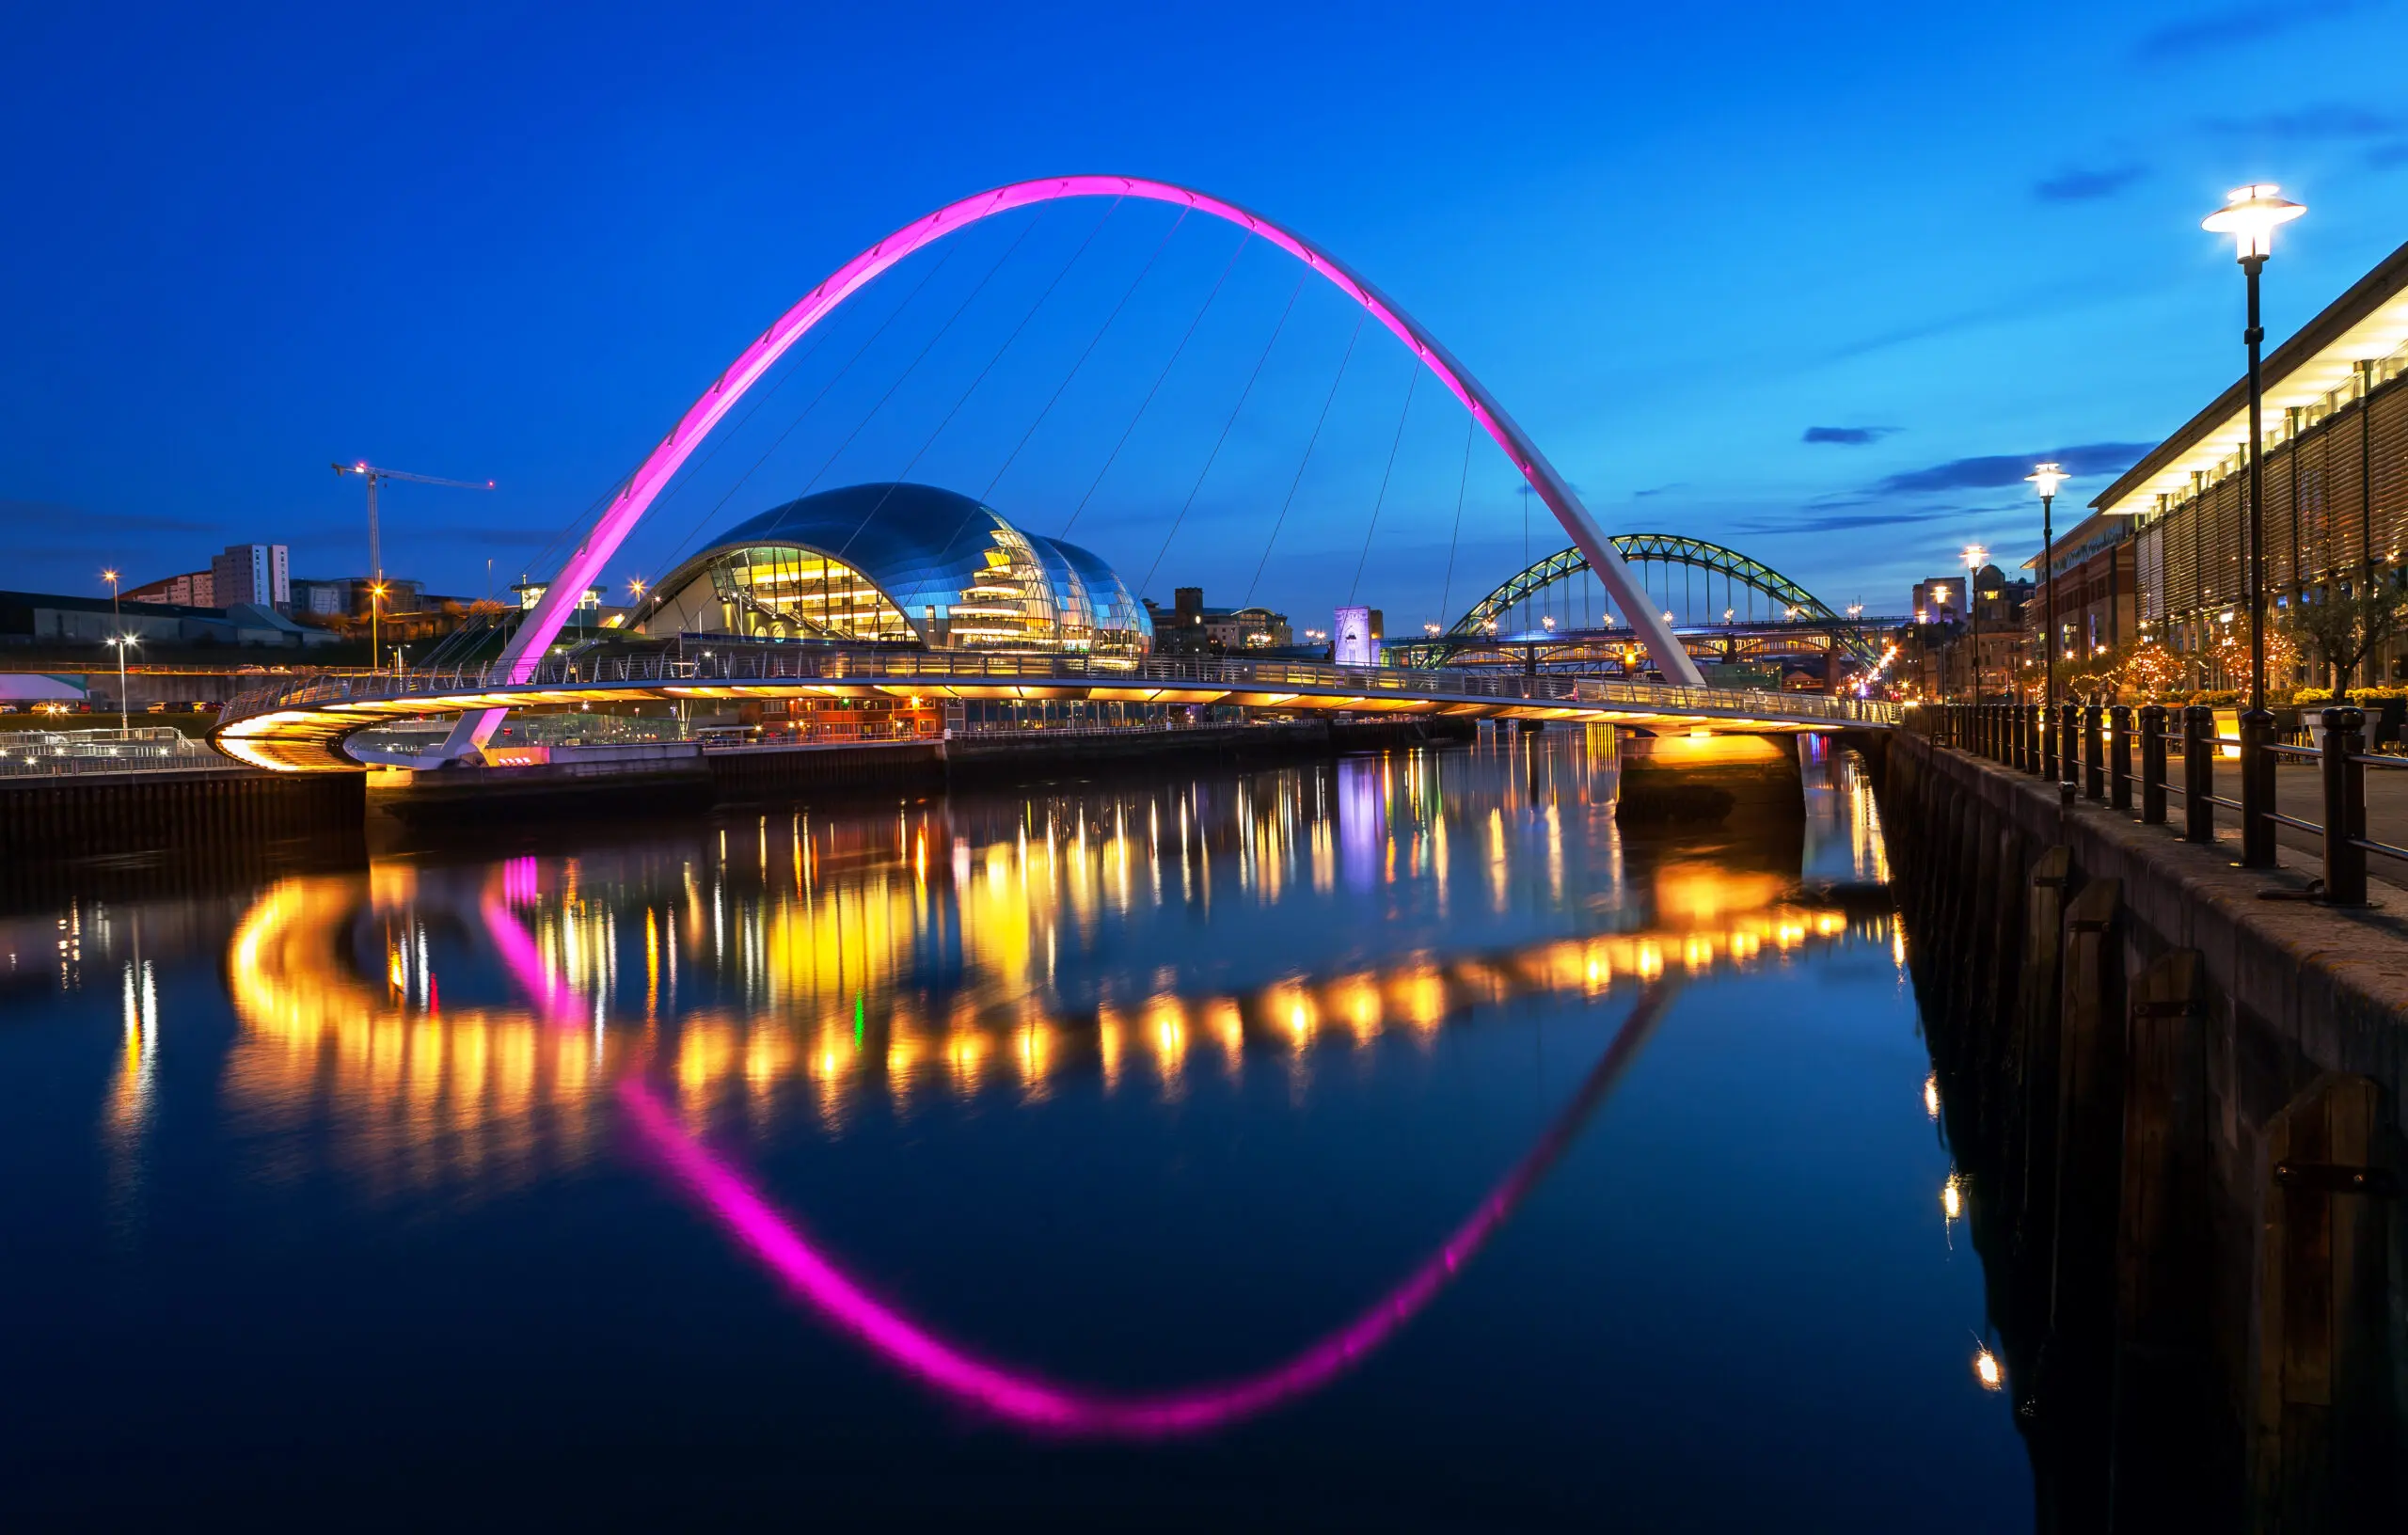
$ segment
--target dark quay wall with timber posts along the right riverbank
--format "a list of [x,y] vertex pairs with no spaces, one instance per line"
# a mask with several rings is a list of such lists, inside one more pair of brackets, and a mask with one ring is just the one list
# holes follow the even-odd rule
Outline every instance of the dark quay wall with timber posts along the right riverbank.
[[2408,1528],[2408,909],[1864,751],[2040,1528]]

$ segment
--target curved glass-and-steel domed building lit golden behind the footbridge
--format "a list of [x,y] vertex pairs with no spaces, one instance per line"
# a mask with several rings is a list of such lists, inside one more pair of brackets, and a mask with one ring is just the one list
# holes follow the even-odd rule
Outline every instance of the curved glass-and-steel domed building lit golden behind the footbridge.
[[727,529],[655,582],[628,628],[1105,662],[1153,647],[1144,604],[1100,556],[915,484],[821,491]]

